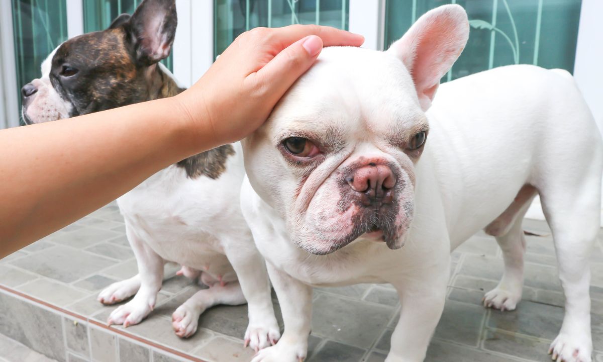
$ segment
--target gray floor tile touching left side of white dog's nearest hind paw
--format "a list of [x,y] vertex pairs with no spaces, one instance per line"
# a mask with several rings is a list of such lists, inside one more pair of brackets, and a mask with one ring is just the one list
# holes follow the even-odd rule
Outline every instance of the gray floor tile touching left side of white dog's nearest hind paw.
[[530,361],[551,361],[551,356],[547,353],[549,343],[499,331],[487,331],[484,339],[484,349],[510,354]]

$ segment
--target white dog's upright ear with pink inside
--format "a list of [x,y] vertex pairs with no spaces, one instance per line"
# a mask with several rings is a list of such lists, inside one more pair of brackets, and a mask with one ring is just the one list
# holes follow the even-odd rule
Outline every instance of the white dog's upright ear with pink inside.
[[464,8],[443,5],[421,16],[388,49],[410,72],[423,111],[431,106],[440,78],[461,55],[467,39],[469,21]]

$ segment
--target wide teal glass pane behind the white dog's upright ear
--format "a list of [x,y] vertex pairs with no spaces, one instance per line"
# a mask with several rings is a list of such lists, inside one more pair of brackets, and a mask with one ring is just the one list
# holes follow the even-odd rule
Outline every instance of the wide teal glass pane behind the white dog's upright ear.
[[573,72],[581,0],[388,0],[385,45],[399,39],[418,16],[444,4],[469,14],[469,42],[443,81],[510,64]]

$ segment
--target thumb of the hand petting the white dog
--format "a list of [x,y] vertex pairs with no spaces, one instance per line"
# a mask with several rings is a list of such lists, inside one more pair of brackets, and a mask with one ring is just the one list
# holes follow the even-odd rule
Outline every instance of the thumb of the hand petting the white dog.
[[317,59],[323,49],[323,40],[311,35],[292,43],[279,52],[267,65],[257,71],[261,83],[271,84],[269,97],[278,101],[280,97],[301,77]]

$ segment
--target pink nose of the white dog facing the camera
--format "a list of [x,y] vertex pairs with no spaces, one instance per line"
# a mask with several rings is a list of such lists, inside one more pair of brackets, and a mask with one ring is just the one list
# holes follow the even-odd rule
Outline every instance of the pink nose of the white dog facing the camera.
[[356,168],[350,176],[346,177],[346,181],[350,188],[362,194],[361,200],[364,206],[381,206],[393,201],[397,180],[391,168],[386,165],[371,162]]

